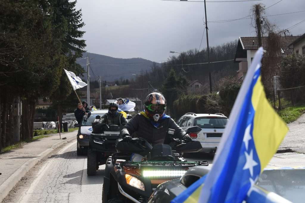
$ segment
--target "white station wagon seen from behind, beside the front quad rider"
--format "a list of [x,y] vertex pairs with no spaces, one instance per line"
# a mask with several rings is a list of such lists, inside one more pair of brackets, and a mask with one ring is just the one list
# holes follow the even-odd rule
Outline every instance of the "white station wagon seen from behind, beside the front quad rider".
[[179,118],[177,124],[187,131],[189,127],[198,126],[201,131],[196,134],[190,133],[194,141],[199,141],[202,145],[201,152],[215,152],[221,136],[228,122],[228,117],[224,114],[195,114],[186,113]]

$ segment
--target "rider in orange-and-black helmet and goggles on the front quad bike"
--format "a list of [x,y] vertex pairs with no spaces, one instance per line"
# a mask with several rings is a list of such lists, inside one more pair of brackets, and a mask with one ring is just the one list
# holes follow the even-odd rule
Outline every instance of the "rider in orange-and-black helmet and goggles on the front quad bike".
[[[132,137],[144,138],[152,145],[169,143],[167,130],[175,130],[173,137],[192,142],[192,138],[186,135],[175,121],[165,112],[166,100],[160,93],[150,93],[144,103],[144,111],[135,115],[120,131],[124,141],[130,141]],[[133,154],[132,161],[142,161],[143,156]]]

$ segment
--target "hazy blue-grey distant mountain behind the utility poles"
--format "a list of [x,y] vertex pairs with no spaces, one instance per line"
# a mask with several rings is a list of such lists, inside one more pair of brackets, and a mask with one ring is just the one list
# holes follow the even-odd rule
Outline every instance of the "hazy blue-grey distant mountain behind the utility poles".
[[[91,80],[95,80],[99,75],[104,77],[105,81],[115,81],[120,79],[131,79],[135,77],[137,74],[140,75],[144,73],[146,70],[150,70],[153,61],[149,61],[143,58],[113,58],[110,56],[93,54],[89,52],[85,52],[83,54],[83,58],[86,56],[90,57],[90,76]],[[85,72],[87,72],[86,59],[78,59],[78,63],[81,64]],[[158,64],[157,64],[158,65]],[[84,76],[86,77],[86,73]]]

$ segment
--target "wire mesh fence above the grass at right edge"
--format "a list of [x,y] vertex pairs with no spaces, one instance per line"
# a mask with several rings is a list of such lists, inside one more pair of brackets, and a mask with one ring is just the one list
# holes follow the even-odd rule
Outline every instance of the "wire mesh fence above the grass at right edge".
[[304,86],[278,90],[278,107],[292,107],[304,99]]

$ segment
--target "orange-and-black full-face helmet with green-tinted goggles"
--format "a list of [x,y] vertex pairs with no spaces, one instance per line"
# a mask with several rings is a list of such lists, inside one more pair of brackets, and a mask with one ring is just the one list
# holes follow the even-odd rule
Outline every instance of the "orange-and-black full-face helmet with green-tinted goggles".
[[160,93],[150,93],[144,103],[145,113],[154,121],[159,121],[166,109],[166,100]]

